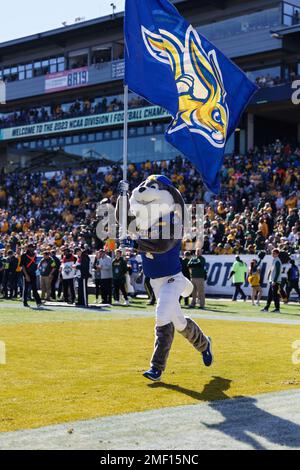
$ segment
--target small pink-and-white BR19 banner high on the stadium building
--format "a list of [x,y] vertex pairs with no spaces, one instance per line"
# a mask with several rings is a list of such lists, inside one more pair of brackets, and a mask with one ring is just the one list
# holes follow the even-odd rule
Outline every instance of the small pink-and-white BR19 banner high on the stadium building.
[[79,69],[66,70],[64,72],[48,74],[45,77],[45,93],[70,90],[89,84],[89,69],[82,67]]

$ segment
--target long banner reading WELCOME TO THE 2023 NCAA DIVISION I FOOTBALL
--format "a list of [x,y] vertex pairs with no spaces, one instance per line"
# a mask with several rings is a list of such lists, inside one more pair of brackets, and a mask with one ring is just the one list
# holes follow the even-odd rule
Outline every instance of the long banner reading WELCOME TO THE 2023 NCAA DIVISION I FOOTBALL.
[[[128,112],[130,123],[139,121],[153,121],[169,117],[167,111],[159,106],[131,109]],[[124,123],[124,111],[113,113],[94,114],[84,117],[50,121],[40,124],[9,127],[0,129],[0,140],[17,140],[28,137],[41,137],[51,134],[98,129],[107,126],[120,126]]]

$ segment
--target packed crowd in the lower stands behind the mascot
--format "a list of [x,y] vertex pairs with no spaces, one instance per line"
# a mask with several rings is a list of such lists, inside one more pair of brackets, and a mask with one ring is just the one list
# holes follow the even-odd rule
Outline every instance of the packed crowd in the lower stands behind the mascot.
[[[129,165],[134,188],[150,174],[165,174],[187,203],[205,205],[204,254],[254,254],[273,248],[291,253],[300,238],[300,148],[279,140],[246,156],[230,155],[222,168],[222,191],[214,196],[187,161]],[[28,242],[39,252],[53,247],[102,248],[97,238],[96,207],[103,198],[116,202],[120,166],[107,173],[95,164],[52,175],[0,176],[0,249],[16,250]],[[192,237],[191,237],[192,238]],[[189,240],[185,240],[188,249]]]

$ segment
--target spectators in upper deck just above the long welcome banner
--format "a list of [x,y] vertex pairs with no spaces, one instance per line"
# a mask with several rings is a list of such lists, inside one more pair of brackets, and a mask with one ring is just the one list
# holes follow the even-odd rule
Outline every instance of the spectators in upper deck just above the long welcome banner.
[[[148,106],[146,100],[132,95],[129,99],[129,108]],[[121,97],[109,97],[102,99],[76,100],[69,104],[55,104],[36,108],[21,109],[12,114],[0,116],[0,128],[38,124],[40,122],[55,121],[61,119],[89,116],[93,114],[112,113],[122,111],[124,102]]]

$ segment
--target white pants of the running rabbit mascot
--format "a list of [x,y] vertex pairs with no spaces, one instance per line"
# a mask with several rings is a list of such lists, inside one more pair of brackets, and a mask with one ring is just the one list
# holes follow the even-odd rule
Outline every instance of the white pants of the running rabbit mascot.
[[165,326],[173,323],[177,331],[186,328],[187,321],[180,307],[180,296],[189,297],[193,284],[182,273],[175,276],[151,279],[151,286],[157,299],[156,325]]

